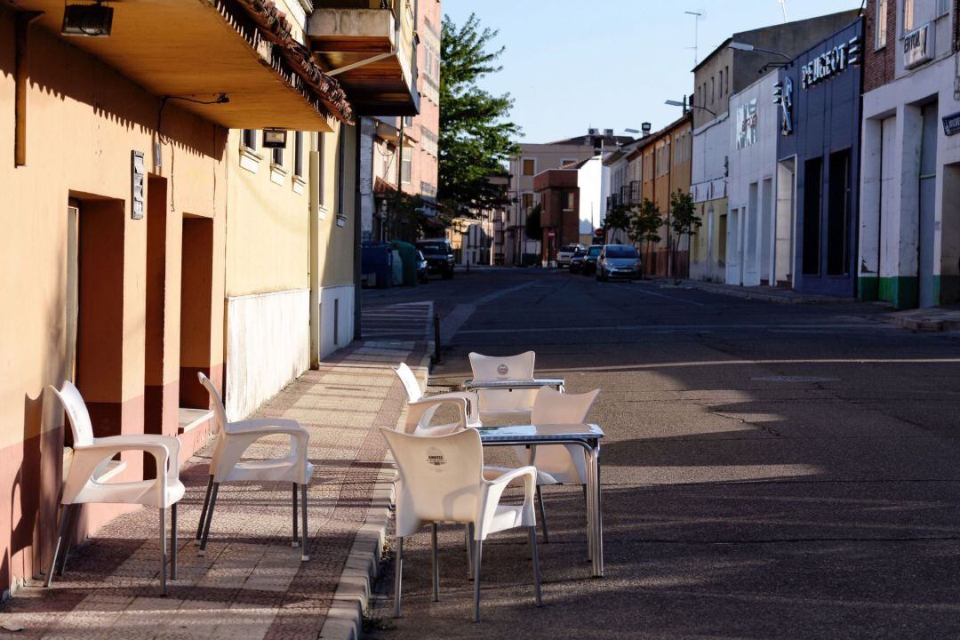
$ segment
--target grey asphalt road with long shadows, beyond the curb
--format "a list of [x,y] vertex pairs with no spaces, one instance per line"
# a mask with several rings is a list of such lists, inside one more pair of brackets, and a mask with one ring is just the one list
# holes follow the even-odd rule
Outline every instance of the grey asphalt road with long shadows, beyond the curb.
[[470,350],[526,349],[567,391],[602,390],[590,419],[608,436],[606,577],[590,577],[579,488],[548,487],[542,608],[523,533],[501,533],[485,544],[483,621],[470,622],[452,526],[431,602],[424,530],[405,546],[404,616],[391,618],[388,566],[372,637],[960,637],[957,334],[894,328],[877,305],[540,270],[364,304],[426,300],[444,317],[438,391],[469,377]]

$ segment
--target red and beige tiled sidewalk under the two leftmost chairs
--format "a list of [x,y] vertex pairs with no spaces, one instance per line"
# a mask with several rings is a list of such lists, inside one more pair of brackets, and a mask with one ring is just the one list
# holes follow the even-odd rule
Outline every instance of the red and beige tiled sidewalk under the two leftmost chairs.
[[[206,557],[194,544],[209,445],[181,466],[180,576],[158,597],[156,510],[121,516],[71,552],[65,575],[29,585],[0,611],[20,638],[230,640],[317,638],[364,524],[386,453],[376,431],[394,426],[402,389],[390,366],[420,365],[423,343],[361,343],[307,371],[256,417],[300,420],[316,465],[309,492],[310,561],[291,547],[291,486],[221,487]],[[286,439],[263,439],[250,455],[271,456]],[[0,630],[0,634],[8,631]]]

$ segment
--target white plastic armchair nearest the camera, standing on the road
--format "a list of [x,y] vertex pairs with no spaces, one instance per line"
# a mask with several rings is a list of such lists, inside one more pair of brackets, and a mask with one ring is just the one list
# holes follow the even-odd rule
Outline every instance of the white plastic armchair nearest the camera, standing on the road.
[[[433,538],[433,599],[440,600],[440,566],[437,553],[438,523],[460,523],[473,531],[473,621],[480,622],[480,563],[483,541],[491,533],[527,527],[534,565],[535,602],[540,606],[540,562],[537,557],[537,518],[534,486],[537,470],[532,466],[508,469],[495,478],[484,478],[483,447],[473,429],[435,438],[398,433],[385,427],[396,461],[396,571],[394,613],[400,615],[403,581],[403,538],[429,524]],[[500,504],[511,481],[522,479],[523,505]]]

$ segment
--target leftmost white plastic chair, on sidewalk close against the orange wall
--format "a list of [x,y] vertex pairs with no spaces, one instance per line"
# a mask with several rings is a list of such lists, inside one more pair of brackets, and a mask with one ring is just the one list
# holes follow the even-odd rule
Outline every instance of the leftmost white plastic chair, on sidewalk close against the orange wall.
[[[180,440],[170,436],[137,434],[94,438],[90,414],[80,391],[69,380],[60,389],[49,386],[66,410],[73,432],[70,470],[60,497],[60,533],[54,544],[44,586],[50,586],[54,571],[63,575],[70,540],[81,505],[87,503],[145,505],[160,513],[160,593],[167,595],[166,510],[170,509],[170,577],[177,580],[177,503],[185,489],[180,483]],[[124,483],[101,482],[113,457],[122,451],[144,451],[156,461],[156,478]],[[63,555],[60,567],[57,557]]]

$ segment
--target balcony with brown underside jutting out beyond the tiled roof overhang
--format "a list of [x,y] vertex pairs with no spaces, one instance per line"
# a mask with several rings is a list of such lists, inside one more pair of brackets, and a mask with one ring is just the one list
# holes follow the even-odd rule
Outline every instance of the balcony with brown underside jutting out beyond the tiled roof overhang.
[[310,16],[314,59],[359,115],[417,115],[417,0],[330,0]]

